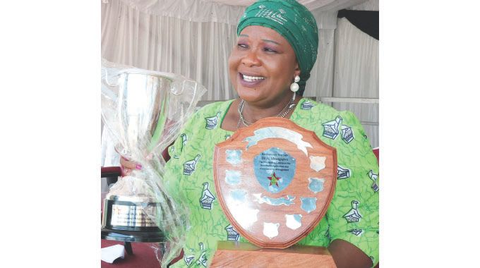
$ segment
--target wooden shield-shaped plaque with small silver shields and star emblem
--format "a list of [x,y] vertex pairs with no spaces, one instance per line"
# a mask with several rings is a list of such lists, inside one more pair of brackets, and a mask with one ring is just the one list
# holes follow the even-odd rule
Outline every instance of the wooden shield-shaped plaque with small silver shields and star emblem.
[[337,151],[285,118],[264,118],[217,144],[215,188],[234,229],[261,248],[288,248],[327,212]]

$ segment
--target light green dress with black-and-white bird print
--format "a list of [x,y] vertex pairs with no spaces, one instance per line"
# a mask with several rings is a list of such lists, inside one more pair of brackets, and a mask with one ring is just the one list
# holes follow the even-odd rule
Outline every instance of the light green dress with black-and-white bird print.
[[[204,106],[186,123],[169,147],[164,178],[169,189],[184,193],[190,209],[191,229],[186,233],[184,260],[173,267],[207,266],[217,240],[246,241],[222,212],[213,181],[215,144],[233,134],[220,128],[232,100]],[[378,162],[364,128],[350,111],[301,99],[290,119],[313,130],[337,148],[337,186],[325,217],[302,239],[301,245],[328,246],[347,240],[378,262]]]

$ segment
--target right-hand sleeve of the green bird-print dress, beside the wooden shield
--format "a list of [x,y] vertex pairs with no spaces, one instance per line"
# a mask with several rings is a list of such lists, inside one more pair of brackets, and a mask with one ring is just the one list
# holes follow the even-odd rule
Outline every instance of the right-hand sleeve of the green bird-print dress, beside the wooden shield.
[[[327,211],[331,240],[352,243],[378,262],[378,162],[359,119],[337,117],[337,185]],[[340,117],[340,118],[339,118]]]

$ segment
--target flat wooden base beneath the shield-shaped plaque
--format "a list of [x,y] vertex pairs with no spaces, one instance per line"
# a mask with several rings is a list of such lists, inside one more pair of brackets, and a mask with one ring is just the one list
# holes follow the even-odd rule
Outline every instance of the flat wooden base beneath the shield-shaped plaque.
[[283,250],[218,241],[210,267],[337,267],[325,247],[292,245]]

